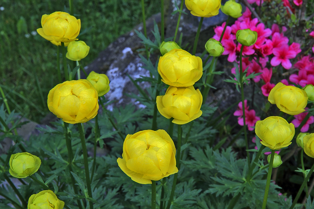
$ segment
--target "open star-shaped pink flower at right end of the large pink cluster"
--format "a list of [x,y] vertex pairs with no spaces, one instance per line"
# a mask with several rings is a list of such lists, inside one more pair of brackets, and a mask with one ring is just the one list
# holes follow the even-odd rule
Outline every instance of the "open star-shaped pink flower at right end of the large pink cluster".
[[295,51],[289,50],[288,45],[282,45],[280,48],[273,49],[273,55],[275,55],[271,60],[270,64],[272,66],[277,66],[281,63],[281,65],[285,69],[290,69],[292,64],[289,59],[295,58]]

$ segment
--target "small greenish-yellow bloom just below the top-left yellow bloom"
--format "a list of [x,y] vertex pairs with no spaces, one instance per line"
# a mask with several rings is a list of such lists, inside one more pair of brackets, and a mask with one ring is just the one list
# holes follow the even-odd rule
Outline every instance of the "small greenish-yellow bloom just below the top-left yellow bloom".
[[79,61],[88,55],[89,46],[84,41],[72,41],[68,45],[66,57],[69,60]]

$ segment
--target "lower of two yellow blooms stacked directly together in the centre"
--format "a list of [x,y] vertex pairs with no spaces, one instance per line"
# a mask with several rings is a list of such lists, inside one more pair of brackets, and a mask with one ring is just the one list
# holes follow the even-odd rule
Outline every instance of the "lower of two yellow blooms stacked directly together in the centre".
[[185,124],[202,115],[203,97],[194,86],[169,86],[164,96],[156,98],[157,109],[165,118],[174,118],[172,123]]

